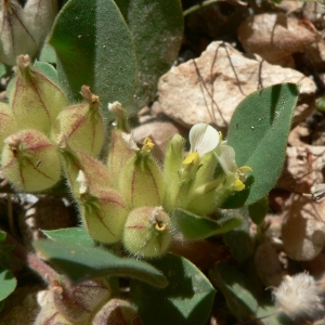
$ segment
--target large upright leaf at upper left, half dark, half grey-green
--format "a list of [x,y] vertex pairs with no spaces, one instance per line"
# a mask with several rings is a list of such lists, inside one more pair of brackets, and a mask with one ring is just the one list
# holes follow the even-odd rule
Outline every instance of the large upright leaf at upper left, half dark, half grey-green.
[[[134,89],[135,53],[128,26],[113,0],[70,0],[58,13],[49,43],[61,86],[70,101],[87,84],[108,102],[129,101]],[[106,110],[105,110],[106,112]]]

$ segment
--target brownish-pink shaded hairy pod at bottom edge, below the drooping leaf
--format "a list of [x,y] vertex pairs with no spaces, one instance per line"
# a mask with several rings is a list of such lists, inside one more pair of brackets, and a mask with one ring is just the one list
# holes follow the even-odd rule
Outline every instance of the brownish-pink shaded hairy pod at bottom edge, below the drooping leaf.
[[105,280],[90,280],[76,286],[56,282],[51,290],[57,312],[73,324],[90,324],[96,308],[110,297]]

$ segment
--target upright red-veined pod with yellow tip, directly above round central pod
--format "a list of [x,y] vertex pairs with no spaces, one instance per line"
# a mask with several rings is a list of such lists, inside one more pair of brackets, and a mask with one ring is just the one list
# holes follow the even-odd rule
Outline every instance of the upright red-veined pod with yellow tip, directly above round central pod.
[[142,150],[127,162],[120,178],[120,193],[132,208],[159,206],[164,199],[164,178],[150,156],[153,145],[150,139],[145,139]]

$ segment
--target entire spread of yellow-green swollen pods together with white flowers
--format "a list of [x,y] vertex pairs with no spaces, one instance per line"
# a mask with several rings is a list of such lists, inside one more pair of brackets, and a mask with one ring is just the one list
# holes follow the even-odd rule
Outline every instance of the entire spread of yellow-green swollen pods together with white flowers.
[[108,105],[116,121],[104,165],[95,159],[105,139],[99,98],[82,86],[83,102],[68,106],[62,90],[31,66],[28,55],[17,62],[10,104],[0,106],[2,171],[24,192],[47,190],[63,174],[95,240],[121,242],[140,258],[160,257],[178,231],[176,209],[207,218],[245,188],[251,169],[238,168],[234,150],[211,126],[191,129],[188,153],[181,135],[170,139],[161,167],[151,139],[135,143],[118,102]]

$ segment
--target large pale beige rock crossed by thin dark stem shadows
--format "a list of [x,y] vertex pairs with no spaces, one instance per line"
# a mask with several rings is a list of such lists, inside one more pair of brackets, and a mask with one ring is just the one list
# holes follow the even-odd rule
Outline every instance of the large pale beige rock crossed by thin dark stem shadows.
[[281,82],[300,83],[302,105],[294,123],[308,116],[313,106],[315,84],[301,73],[245,56],[227,43],[212,42],[200,57],[181,64],[158,83],[159,108],[190,128],[197,122],[227,128],[238,103],[253,91]]

